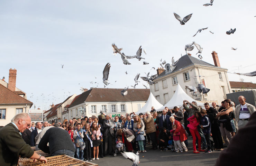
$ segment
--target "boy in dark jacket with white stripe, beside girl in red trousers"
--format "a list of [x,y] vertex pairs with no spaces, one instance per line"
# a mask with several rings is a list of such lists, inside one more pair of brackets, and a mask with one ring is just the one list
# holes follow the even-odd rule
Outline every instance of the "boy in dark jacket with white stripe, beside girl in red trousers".
[[200,111],[201,113],[201,128],[203,129],[203,134],[204,137],[206,139],[207,142],[207,151],[205,151],[204,153],[212,153],[211,150],[211,140],[210,140],[210,136],[211,136],[211,122],[210,119],[208,117],[208,115],[206,114],[206,110],[201,109]]

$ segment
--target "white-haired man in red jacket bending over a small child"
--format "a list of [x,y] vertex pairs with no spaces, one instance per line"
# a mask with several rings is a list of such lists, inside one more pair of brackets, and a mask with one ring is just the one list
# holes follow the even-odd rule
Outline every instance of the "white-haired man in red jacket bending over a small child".
[[181,147],[184,149],[184,151],[188,151],[188,148],[186,147],[184,141],[187,140],[187,135],[185,129],[182,127],[181,122],[175,120],[174,116],[170,117],[170,121],[172,124],[176,125],[176,130],[174,131],[173,135],[175,136],[176,133],[180,132],[180,142]]

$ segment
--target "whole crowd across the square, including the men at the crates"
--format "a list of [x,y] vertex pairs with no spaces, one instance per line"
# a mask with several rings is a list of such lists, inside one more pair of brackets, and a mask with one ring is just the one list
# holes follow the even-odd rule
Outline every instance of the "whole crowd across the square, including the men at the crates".
[[[36,122],[35,128],[28,114],[21,113],[0,130],[0,137],[3,138],[3,132],[10,135],[0,138],[0,149],[11,146],[8,139],[17,138],[22,133],[23,142],[19,139],[21,145],[17,146],[21,150],[8,157],[8,162],[15,163],[16,160],[10,159],[19,155],[47,161],[43,156],[33,154],[30,146],[52,156],[66,154],[85,161],[122,151],[145,153],[149,150],[147,144],[152,144],[152,150],[173,149],[175,153],[183,153],[188,151],[188,136],[193,138],[193,153],[221,151],[256,111],[253,105],[245,102],[244,96],[239,96],[238,100],[240,104],[236,107],[234,102],[226,99],[220,107],[216,102],[204,103],[205,109],[195,101],[184,100],[182,108],[165,107],[158,113],[152,107],[145,114],[133,112],[112,118],[103,113],[98,117],[65,119],[63,123]],[[12,148],[8,149],[11,151]],[[0,150],[0,157],[4,158],[6,154]]]

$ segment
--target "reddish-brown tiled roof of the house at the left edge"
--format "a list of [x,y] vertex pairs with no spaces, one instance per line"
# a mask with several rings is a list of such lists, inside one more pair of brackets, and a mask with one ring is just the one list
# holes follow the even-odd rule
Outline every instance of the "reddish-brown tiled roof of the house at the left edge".
[[9,90],[7,87],[0,84],[0,105],[17,105],[28,104],[31,106],[33,103],[25,98],[22,98],[15,92]]

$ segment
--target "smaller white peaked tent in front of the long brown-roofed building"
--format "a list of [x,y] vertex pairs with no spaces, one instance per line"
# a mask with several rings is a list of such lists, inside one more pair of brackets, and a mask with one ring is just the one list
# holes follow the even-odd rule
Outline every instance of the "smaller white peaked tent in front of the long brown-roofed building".
[[150,111],[152,106],[154,106],[155,109],[163,107],[163,105],[159,103],[156,100],[155,96],[150,92],[146,104],[139,111],[137,111],[136,114],[138,115],[139,113],[145,113],[147,111]]

